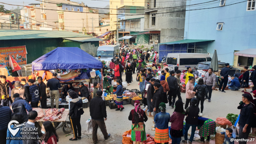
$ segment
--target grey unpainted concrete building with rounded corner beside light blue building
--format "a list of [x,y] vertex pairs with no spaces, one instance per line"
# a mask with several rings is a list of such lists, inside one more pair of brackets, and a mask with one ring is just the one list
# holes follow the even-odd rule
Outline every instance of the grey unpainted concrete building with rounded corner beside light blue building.
[[186,1],[180,0],[145,0],[144,31],[149,31],[150,44],[183,40],[185,5]]

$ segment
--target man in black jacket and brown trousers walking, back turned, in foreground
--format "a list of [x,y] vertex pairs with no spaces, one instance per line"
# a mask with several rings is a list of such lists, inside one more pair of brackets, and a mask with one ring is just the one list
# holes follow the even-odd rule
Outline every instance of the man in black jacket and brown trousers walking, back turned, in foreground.
[[[110,137],[110,133],[107,133],[106,124],[104,120],[107,120],[107,111],[105,101],[102,100],[102,91],[97,91],[97,96],[90,101],[90,116],[93,121],[93,143],[97,143],[97,130],[98,126],[105,139]],[[105,119],[104,119],[105,118]]]

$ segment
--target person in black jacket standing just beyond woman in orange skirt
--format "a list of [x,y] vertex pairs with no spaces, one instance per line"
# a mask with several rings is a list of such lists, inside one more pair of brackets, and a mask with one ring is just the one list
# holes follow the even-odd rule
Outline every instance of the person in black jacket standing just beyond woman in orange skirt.
[[154,108],[154,110],[153,110],[154,117],[156,116],[157,113],[160,112],[160,110],[159,110],[159,104],[161,103],[161,91],[159,89],[160,86],[161,86],[160,83],[158,83],[158,82],[154,83],[155,92],[154,92],[153,100],[151,103],[151,107]]

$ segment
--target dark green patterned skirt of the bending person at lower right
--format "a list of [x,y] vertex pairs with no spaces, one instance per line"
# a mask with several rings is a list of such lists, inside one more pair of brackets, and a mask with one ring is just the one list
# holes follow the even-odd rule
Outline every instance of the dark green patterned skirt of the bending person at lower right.
[[201,126],[198,134],[201,137],[207,137],[207,136],[210,136],[210,135],[215,135],[215,131],[216,131],[215,129],[216,129],[215,122],[211,119],[208,119]]

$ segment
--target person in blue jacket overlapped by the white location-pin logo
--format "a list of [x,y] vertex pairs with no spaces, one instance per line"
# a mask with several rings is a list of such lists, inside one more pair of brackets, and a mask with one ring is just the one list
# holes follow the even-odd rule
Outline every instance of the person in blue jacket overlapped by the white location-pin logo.
[[[20,112],[16,113],[13,115],[12,120],[18,121],[20,124],[24,121],[23,116]],[[14,125],[11,125],[11,128],[13,128]],[[20,134],[21,129],[19,129],[19,131],[16,133],[15,136],[12,135],[12,133],[9,131],[9,129],[7,129],[7,137],[16,137],[16,139],[6,139],[6,144],[22,144],[22,139],[18,139],[18,137],[22,137],[22,135]]]

